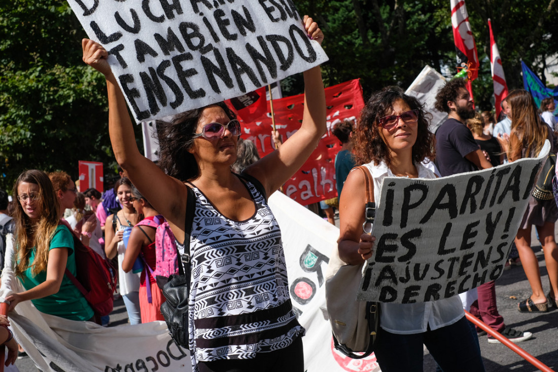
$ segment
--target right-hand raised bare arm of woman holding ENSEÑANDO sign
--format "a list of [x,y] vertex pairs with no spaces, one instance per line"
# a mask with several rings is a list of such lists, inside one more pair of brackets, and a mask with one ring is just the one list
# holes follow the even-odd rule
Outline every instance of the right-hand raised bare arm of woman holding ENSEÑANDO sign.
[[[320,44],[324,39],[318,24],[304,16],[306,32]],[[326,129],[324,83],[320,66],[304,72],[304,115],[300,129],[276,151],[246,168],[266,188],[267,195],[275,192],[292,177],[318,146]]]

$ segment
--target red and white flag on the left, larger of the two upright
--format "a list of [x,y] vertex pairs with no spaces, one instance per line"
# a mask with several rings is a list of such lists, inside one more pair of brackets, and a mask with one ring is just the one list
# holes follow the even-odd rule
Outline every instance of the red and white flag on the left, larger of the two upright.
[[[451,26],[454,31],[455,51],[457,53],[458,67],[467,68],[469,80],[478,76],[479,57],[477,44],[469,24],[469,15],[464,0],[451,1]],[[472,93],[472,92],[470,92]]]

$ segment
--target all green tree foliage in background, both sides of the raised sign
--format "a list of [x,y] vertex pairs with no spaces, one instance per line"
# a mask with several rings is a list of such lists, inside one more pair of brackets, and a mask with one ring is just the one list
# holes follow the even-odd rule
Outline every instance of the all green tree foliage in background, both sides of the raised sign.
[[[449,0],[294,2],[324,30],[326,85],[360,78],[367,96],[387,85],[407,88],[425,65],[456,73]],[[521,59],[544,81],[546,57],[558,52],[556,0],[466,4],[481,61],[473,83],[480,109],[493,102],[488,18],[509,88],[522,88]],[[104,79],[81,61],[86,35],[68,3],[2,1],[0,26],[0,187],[10,189],[26,168],[76,178],[79,160],[103,162],[105,177],[114,173]],[[301,93],[301,76],[282,86],[286,95]]]

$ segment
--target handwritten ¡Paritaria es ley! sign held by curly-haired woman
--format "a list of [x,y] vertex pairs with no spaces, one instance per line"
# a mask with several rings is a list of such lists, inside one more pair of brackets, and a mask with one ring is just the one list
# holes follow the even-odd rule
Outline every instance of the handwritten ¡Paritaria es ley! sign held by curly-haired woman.
[[499,278],[549,150],[435,180],[384,178],[357,299],[435,301]]

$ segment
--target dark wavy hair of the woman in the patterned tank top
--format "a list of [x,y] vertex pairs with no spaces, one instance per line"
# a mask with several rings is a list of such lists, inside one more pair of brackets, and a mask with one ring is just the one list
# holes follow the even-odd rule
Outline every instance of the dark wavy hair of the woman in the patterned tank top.
[[157,165],[167,175],[180,181],[187,181],[199,176],[200,170],[194,155],[188,149],[194,144],[194,133],[204,109],[219,106],[229,117],[237,115],[224,103],[214,103],[175,115],[171,122],[157,120],[157,140],[159,143],[159,161]]

